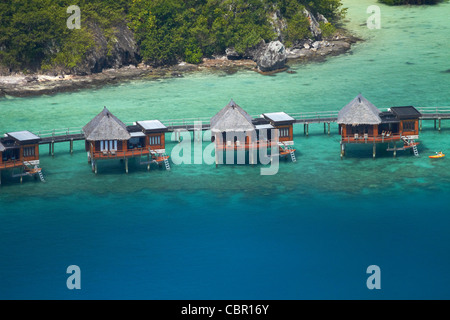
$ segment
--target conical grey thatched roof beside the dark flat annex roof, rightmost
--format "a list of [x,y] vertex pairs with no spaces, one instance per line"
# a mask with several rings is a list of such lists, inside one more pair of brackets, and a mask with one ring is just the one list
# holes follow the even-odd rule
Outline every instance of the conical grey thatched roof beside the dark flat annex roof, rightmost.
[[359,94],[339,111],[337,123],[357,126],[360,124],[380,124],[381,111]]

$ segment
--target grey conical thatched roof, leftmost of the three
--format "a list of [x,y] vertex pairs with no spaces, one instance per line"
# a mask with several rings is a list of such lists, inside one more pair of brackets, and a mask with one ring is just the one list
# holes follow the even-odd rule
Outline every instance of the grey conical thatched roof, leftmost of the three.
[[106,107],[83,127],[86,140],[129,140],[127,126],[116,118]]

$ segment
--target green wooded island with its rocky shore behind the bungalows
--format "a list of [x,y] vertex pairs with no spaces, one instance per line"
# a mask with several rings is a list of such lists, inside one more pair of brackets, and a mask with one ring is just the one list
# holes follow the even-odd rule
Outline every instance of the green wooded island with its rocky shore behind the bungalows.
[[[437,1],[391,1],[386,4]],[[73,6],[79,26],[69,28]],[[201,69],[286,70],[360,40],[341,0],[51,0],[0,4],[0,96]],[[72,21],[73,22],[73,21]]]

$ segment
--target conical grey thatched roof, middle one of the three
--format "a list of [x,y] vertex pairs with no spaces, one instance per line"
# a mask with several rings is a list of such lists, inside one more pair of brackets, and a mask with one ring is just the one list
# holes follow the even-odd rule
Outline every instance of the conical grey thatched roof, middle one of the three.
[[252,117],[231,99],[230,103],[211,118],[211,131],[255,130],[252,120]]

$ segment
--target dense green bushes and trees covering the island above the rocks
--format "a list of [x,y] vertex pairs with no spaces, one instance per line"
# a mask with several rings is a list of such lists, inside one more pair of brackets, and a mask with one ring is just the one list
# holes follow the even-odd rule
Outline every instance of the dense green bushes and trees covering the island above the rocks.
[[[66,26],[70,5],[81,9],[81,29]],[[198,63],[227,47],[243,53],[275,39],[274,12],[286,21],[287,43],[311,37],[305,8],[330,21],[321,24],[324,34],[334,31],[344,12],[341,0],[6,0],[0,2],[0,64],[12,70],[70,70],[96,49],[94,29],[112,45],[121,23],[134,32],[144,61]]]

